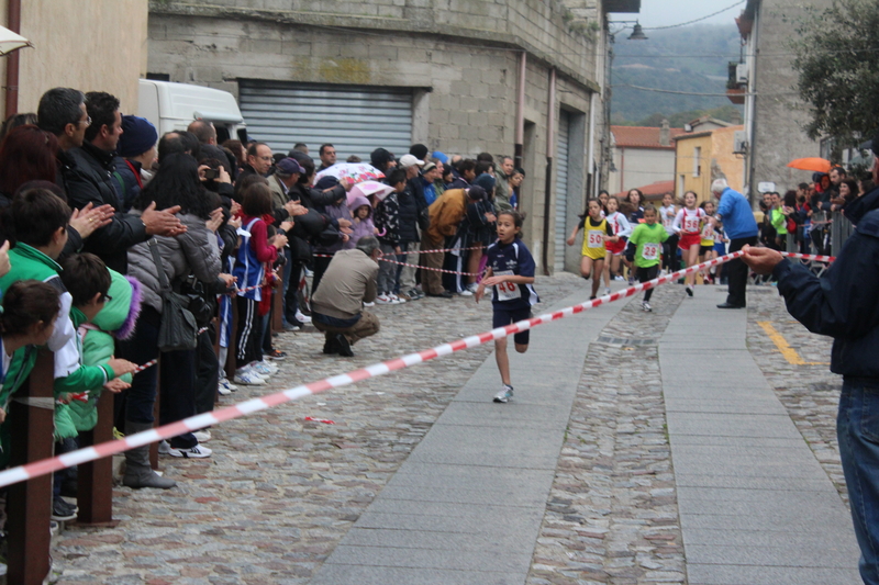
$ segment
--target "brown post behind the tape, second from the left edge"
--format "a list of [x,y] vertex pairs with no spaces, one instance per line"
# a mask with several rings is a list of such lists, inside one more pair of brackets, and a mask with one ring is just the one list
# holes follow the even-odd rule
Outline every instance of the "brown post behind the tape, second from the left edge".
[[[113,394],[102,392],[97,408],[98,424],[79,434],[80,447],[113,440]],[[113,458],[78,465],[77,477],[77,524],[115,527],[119,521],[113,520]]]

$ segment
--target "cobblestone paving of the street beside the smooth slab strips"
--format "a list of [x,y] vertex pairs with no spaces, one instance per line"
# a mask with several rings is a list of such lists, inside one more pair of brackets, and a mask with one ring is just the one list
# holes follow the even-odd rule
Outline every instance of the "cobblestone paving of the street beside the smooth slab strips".
[[[539,278],[543,303],[535,313],[582,286],[572,274]],[[709,288],[697,294],[703,290]],[[687,583],[656,345],[687,300],[681,286],[666,285],[654,295],[654,312],[644,313],[639,299],[622,301],[627,305],[589,347],[530,585]],[[771,323],[805,362],[827,361],[830,339],[792,322],[772,288],[752,288],[748,301],[748,348],[845,495],[835,445],[839,380],[825,364],[790,363],[759,324]],[[291,358],[271,390],[490,325],[490,306],[465,299],[427,299],[377,313],[381,333],[355,346],[353,359],[323,356],[315,333],[281,335],[279,347]],[[723,335],[710,324],[693,334]],[[56,539],[55,582],[309,583],[489,355],[482,346],[214,428],[213,458],[163,458],[177,488],[118,487],[119,527],[71,527]],[[723,356],[693,356],[705,384],[717,359]],[[486,390],[487,400],[493,391]],[[242,389],[227,398],[254,392]]]

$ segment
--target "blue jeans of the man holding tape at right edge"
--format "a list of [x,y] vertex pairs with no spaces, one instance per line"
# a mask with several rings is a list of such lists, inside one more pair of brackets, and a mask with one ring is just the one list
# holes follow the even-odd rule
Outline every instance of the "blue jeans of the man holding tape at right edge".
[[843,381],[836,436],[860,547],[860,578],[879,585],[879,380]]

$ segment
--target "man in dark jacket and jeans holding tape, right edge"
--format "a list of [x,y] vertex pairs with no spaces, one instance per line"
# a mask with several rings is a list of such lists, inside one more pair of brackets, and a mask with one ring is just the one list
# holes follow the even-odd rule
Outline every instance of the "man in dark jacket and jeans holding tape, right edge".
[[[879,153],[879,136],[872,151]],[[874,160],[879,179],[879,158]],[[879,584],[879,189],[849,202],[857,227],[822,278],[768,248],[745,247],[745,262],[771,272],[788,312],[815,334],[833,337],[831,371],[843,376],[836,432],[860,545],[860,576]]]

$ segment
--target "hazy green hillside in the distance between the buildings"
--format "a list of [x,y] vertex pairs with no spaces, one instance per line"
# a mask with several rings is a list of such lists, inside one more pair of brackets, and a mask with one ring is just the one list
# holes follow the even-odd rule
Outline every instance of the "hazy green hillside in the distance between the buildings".
[[735,25],[731,22],[730,25],[647,30],[646,34],[647,41],[628,41],[628,31],[616,35],[613,123],[633,124],[657,117],[659,121],[663,117],[671,120],[682,112],[689,115],[709,110],[715,117],[728,120],[734,106],[725,97],[661,93],[626,86],[685,93],[725,93],[727,65],[739,59],[741,38]]

